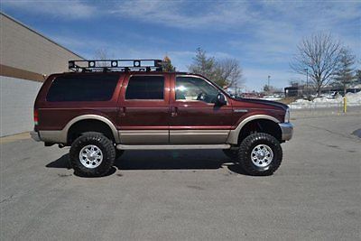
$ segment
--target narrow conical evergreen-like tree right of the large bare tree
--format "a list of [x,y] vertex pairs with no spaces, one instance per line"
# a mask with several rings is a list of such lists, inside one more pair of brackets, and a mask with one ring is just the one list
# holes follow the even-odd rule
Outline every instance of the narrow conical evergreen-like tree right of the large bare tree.
[[344,90],[344,95],[346,95],[347,87],[351,85],[355,80],[354,76],[356,56],[351,53],[348,49],[341,50],[341,58],[338,64],[338,71],[335,75],[334,85],[342,87]]

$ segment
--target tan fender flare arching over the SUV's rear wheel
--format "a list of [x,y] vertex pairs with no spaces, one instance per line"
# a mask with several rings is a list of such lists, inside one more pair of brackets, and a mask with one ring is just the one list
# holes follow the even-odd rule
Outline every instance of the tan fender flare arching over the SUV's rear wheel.
[[66,143],[68,141],[68,132],[69,129],[72,125],[78,123],[79,121],[82,120],[98,120],[101,121],[103,123],[105,123],[106,125],[109,126],[110,130],[112,131],[112,134],[114,136],[114,140],[116,141],[116,143],[119,143],[119,135],[118,135],[118,131],[116,130],[116,125],[114,125],[108,118],[104,117],[104,116],[98,116],[98,115],[82,115],[82,116],[77,116],[73,119],[71,119],[67,125],[65,125],[65,127],[61,130],[61,139],[63,140],[63,143]]

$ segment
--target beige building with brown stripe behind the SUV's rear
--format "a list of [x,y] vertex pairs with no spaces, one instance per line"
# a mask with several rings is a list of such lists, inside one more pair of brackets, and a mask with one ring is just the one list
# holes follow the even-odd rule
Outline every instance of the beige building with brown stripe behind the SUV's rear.
[[42,81],[68,70],[73,51],[0,13],[0,136],[32,129],[32,108]]

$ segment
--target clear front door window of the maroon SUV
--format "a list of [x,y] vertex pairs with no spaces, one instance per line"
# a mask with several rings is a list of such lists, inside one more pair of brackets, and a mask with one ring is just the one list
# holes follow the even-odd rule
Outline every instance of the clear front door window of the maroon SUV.
[[218,89],[197,77],[178,76],[175,82],[175,99],[216,103]]

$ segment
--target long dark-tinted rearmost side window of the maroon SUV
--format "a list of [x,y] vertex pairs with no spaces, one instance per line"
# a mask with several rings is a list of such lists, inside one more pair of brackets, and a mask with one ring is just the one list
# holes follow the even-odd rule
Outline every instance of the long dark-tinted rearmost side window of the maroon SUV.
[[47,101],[106,101],[113,97],[119,75],[61,76],[54,79]]

